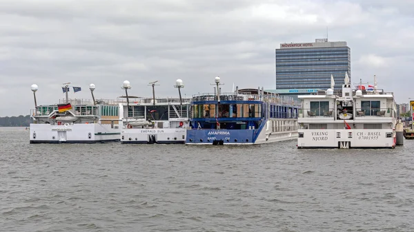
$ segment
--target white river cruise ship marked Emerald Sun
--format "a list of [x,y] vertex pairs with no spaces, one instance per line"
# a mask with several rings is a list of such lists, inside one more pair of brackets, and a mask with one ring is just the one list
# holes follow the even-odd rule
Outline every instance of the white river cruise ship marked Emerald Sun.
[[152,98],[128,96],[129,81],[122,86],[126,90],[120,114],[124,127],[121,130],[121,143],[172,144],[186,143],[188,111],[190,99],[181,98],[183,81],[178,79],[175,87],[179,89],[179,98],[155,98],[154,85]]

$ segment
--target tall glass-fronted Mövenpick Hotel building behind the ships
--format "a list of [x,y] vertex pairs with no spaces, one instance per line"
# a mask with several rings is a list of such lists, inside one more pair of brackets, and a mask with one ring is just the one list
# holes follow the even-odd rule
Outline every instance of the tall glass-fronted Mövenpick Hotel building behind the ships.
[[351,50],[346,42],[282,43],[275,57],[276,90],[326,90],[331,87],[331,74],[335,89],[340,88],[346,72],[351,81]]

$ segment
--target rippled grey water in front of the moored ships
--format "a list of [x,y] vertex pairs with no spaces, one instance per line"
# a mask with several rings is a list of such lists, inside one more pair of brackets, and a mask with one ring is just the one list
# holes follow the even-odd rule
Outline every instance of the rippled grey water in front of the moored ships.
[[30,145],[0,127],[2,231],[414,231],[414,141],[387,150]]

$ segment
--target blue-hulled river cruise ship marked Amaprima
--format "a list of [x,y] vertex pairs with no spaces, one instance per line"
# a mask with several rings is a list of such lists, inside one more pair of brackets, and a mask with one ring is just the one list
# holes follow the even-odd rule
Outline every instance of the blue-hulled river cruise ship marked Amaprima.
[[191,100],[186,145],[254,145],[297,138],[299,106],[291,98],[257,89],[214,94]]

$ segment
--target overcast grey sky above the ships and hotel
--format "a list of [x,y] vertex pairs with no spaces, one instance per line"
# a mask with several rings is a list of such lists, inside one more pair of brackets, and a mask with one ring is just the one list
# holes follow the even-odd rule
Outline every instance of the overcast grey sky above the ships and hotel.
[[213,92],[215,76],[230,92],[275,88],[280,43],[346,41],[352,81],[414,98],[412,0],[0,0],[0,116],[27,115],[37,103],[64,98],[61,84],[82,87],[70,97],[115,99]]

